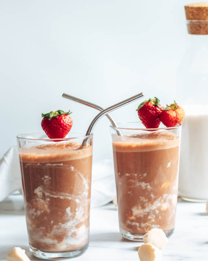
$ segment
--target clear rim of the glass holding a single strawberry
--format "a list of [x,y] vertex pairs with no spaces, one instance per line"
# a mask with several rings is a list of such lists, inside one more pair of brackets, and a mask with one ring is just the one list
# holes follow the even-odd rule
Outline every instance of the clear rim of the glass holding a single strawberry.
[[[87,131],[71,131],[71,132],[84,132],[86,133]],[[70,140],[70,139],[81,139],[81,138],[91,138],[93,137],[93,133],[91,135],[84,135],[84,136],[78,136],[78,137],[71,137],[71,138],[55,138],[55,139],[50,139],[50,138],[44,138],[44,139],[36,139],[36,138],[27,138],[27,137],[21,137],[23,135],[31,135],[35,133],[44,133],[44,131],[35,131],[35,132],[27,132],[27,133],[21,133],[16,136],[17,139],[27,139],[27,140],[41,140],[41,141],[64,141],[64,140]]]

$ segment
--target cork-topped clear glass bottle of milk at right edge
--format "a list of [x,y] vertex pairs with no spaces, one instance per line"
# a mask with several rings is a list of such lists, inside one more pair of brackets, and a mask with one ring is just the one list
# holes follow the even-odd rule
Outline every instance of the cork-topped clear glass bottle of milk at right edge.
[[185,6],[189,45],[177,73],[182,124],[179,194],[208,200],[208,3]]

